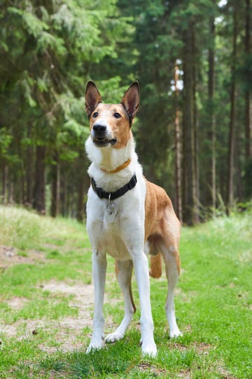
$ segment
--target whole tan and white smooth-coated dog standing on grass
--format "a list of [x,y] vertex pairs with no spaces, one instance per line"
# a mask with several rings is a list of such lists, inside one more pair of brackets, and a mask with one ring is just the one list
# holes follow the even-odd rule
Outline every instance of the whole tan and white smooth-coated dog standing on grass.
[[100,349],[104,340],[106,253],[116,260],[125,315],[105,341],[113,343],[123,338],[136,310],[131,288],[134,267],[141,306],[142,354],[157,354],[149,274],[160,277],[162,257],[169,284],[165,304],[169,336],[181,335],[174,310],[174,288],[180,271],[180,223],[165,190],[143,176],[132,135],[132,121],[138,108],[137,81],[127,89],[119,104],[102,103],[97,86],[92,81],[87,82],[85,110],[90,120],[90,136],[85,148],[92,162],[88,170],[91,185],[87,199],[87,232],[92,244],[94,281],[93,333],[87,352]]

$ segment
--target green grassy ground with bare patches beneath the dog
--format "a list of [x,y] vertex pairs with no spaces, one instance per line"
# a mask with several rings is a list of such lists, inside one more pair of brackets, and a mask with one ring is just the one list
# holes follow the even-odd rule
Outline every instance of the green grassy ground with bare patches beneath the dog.
[[[158,357],[141,357],[139,298],[124,340],[85,354],[92,319],[90,244],[73,220],[0,207],[0,378],[251,378],[251,214],[183,228],[169,340],[165,276],[151,279]],[[123,317],[109,259],[106,333]]]

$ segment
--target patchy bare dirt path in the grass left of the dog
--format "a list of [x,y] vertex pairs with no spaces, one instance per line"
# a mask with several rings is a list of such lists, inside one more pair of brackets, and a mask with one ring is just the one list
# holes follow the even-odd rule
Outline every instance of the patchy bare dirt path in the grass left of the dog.
[[[43,251],[29,251],[28,256],[18,255],[15,248],[8,246],[0,246],[0,273],[8,267],[24,263],[32,264],[37,260],[46,260]],[[41,350],[52,352],[55,350],[71,351],[83,346],[83,329],[92,327],[92,310],[94,302],[94,287],[92,284],[83,284],[77,281],[55,281],[51,280],[40,285],[43,291],[57,293],[69,297],[73,295],[73,300],[69,301],[70,307],[76,307],[78,314],[76,317],[62,317],[57,320],[36,319],[27,320],[20,319],[13,324],[4,324],[0,320],[0,331],[6,337],[14,337],[18,340],[31,338],[32,335],[43,331],[52,331],[55,342],[59,347],[48,347],[40,345]],[[1,296],[0,296],[1,300]],[[6,300],[5,300],[6,301]],[[13,297],[6,301],[11,310],[21,310],[29,300],[25,297]],[[106,302],[106,298],[105,298]],[[111,326],[112,321],[109,321]],[[55,331],[57,331],[55,335]]]

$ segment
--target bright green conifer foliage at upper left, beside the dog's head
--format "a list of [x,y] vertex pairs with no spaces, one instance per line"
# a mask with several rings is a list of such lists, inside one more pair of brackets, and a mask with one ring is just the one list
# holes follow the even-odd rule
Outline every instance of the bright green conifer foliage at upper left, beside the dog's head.
[[[11,143],[8,135],[15,135],[20,123],[21,143],[32,137],[34,145],[56,144],[70,161],[73,152],[83,148],[87,136],[83,94],[90,62],[100,62],[106,55],[115,57],[115,35],[125,34],[125,23],[114,19],[116,11],[114,1],[94,5],[88,0],[20,1],[1,7],[0,77],[5,109],[1,121],[6,127],[4,135],[1,131],[1,145],[6,147],[0,154],[6,152]],[[13,114],[10,98],[18,109],[25,109],[22,120],[17,118],[18,109]],[[32,125],[28,136],[25,124]]]

